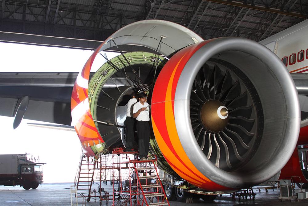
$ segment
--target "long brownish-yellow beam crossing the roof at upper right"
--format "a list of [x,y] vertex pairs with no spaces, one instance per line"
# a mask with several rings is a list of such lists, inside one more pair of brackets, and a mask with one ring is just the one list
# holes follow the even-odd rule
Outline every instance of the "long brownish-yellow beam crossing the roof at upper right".
[[286,15],[286,16],[293,16],[293,17],[298,17],[298,18],[302,18],[302,19],[307,19],[307,17],[308,17],[307,15],[301,15],[299,13],[280,11],[279,9],[266,8],[265,6],[258,6],[258,5],[252,6],[251,4],[243,4],[241,2],[235,2],[235,1],[224,1],[224,0],[206,0],[206,1],[207,2],[219,3],[219,4],[226,4],[226,5],[231,5],[231,6],[239,6],[239,7],[254,9],[254,10],[258,10],[258,11],[266,11],[266,12],[275,13],[275,14],[282,14],[282,15]]

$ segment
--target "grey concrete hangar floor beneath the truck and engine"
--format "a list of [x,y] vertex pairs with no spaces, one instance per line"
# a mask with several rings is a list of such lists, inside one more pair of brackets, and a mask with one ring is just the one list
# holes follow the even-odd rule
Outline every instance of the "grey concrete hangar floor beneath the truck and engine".
[[[22,187],[0,186],[0,206],[69,206],[71,205],[70,185],[73,185],[73,183],[44,183],[35,190],[24,190]],[[110,184],[104,185],[103,187],[107,191],[112,191],[112,186]],[[95,189],[97,189],[96,185]],[[241,201],[239,201],[237,198],[233,201],[230,195],[222,195],[222,197],[217,197],[217,199],[212,202],[205,202],[199,199],[193,200],[193,203],[189,204],[171,201],[170,205],[308,205],[308,200],[304,202],[295,202],[294,200],[292,200],[292,202],[279,202],[277,198],[277,189],[274,191],[268,190],[267,193],[265,190],[259,192],[255,189],[254,191],[257,194],[255,200],[249,199],[248,197],[247,200],[241,199]],[[76,205],[75,197],[73,197],[73,205]],[[82,198],[78,198],[78,205],[85,205],[85,202],[82,204]],[[91,199],[86,205],[99,205],[99,201],[96,200],[96,202],[94,202],[94,199]],[[103,201],[102,205],[106,205],[106,201]],[[109,201],[107,205],[111,206],[112,200]]]

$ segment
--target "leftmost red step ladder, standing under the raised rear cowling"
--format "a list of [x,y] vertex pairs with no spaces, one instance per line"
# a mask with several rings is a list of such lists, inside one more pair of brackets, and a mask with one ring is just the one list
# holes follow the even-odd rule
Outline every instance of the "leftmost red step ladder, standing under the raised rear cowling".
[[94,171],[97,161],[90,163],[89,158],[82,155],[79,163],[78,177],[75,181],[76,197],[87,197],[89,201],[91,198],[91,187],[93,183]]

